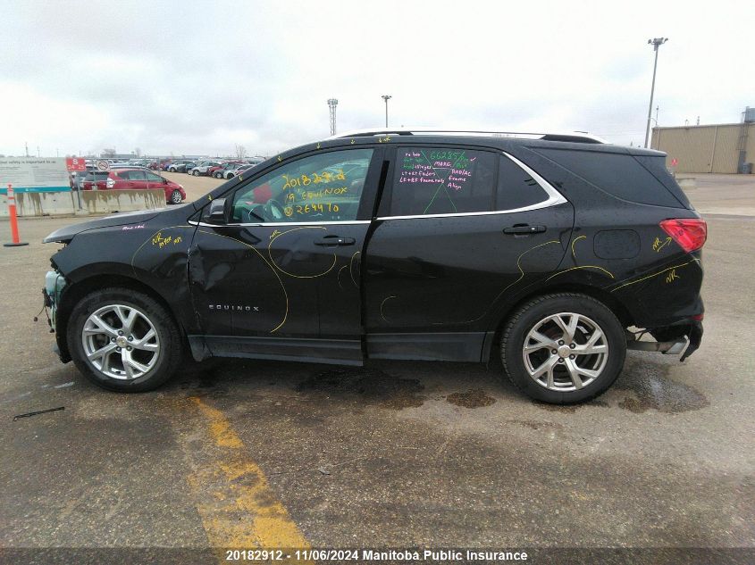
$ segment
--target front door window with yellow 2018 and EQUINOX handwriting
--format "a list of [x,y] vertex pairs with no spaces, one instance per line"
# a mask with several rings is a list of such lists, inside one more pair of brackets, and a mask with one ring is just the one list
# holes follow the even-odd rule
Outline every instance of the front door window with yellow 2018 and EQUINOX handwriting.
[[234,223],[356,220],[373,149],[315,154],[239,188]]

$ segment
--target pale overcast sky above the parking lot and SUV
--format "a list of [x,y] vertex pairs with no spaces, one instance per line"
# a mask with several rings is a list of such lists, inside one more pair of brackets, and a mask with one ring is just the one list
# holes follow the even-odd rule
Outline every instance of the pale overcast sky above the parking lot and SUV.
[[0,154],[273,154],[338,129],[661,126],[755,105],[748,2],[0,0]]

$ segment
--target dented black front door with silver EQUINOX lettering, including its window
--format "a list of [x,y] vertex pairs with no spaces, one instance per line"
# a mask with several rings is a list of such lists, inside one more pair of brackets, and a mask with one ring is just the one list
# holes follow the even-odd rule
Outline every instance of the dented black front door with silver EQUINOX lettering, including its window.
[[189,250],[210,351],[361,362],[360,264],[379,154],[306,154],[224,195],[227,222],[203,220]]

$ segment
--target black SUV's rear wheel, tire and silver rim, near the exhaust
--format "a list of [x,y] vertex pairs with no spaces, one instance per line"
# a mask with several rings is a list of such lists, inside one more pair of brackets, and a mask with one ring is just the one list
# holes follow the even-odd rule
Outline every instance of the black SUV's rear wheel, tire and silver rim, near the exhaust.
[[626,340],[605,304],[587,295],[558,293],[533,298],[514,312],[503,329],[500,352],[505,373],[525,395],[574,404],[603,394],[614,383],[624,367]]

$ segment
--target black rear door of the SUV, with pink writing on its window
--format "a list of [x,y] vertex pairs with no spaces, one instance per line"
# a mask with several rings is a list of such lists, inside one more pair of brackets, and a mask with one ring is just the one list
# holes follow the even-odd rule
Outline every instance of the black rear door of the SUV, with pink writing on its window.
[[479,361],[517,293],[558,267],[571,204],[524,163],[400,145],[365,260],[372,357]]

